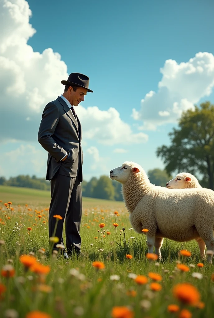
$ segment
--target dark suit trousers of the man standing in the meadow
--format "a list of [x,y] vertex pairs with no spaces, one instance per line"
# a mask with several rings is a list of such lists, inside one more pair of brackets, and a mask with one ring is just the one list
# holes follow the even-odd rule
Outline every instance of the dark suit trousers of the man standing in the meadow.
[[[56,233],[54,229],[56,218],[60,215],[62,220],[58,221]],[[57,171],[51,179],[51,203],[49,209],[49,237],[57,236],[63,243],[63,223],[65,221],[65,235],[67,253],[79,253],[81,248],[80,223],[82,218],[82,190],[78,177],[64,176]],[[56,243],[53,249],[56,248]]]

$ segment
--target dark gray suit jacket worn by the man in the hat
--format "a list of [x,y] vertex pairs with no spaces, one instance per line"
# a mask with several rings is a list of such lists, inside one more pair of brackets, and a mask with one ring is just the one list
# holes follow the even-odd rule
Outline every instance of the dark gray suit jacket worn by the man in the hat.
[[[46,180],[51,180],[60,169],[61,175],[78,176],[82,182],[82,128],[78,117],[77,122],[61,97],[46,105],[38,133],[39,143],[48,151]],[[66,153],[67,159],[60,161]]]

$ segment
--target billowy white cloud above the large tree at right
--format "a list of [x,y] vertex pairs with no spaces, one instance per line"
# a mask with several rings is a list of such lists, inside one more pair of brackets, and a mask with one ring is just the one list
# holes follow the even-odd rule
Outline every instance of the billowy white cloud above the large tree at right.
[[140,110],[132,110],[132,117],[143,121],[140,130],[155,130],[157,126],[175,123],[182,111],[194,110],[194,104],[209,96],[214,86],[214,56],[199,52],[180,64],[169,59],[160,73],[163,76],[158,92],[147,93],[141,100]]

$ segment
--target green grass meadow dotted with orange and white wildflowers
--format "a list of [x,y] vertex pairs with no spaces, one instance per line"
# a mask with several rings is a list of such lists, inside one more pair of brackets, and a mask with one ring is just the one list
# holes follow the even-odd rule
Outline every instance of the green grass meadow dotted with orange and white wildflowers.
[[123,202],[83,198],[85,256],[66,261],[50,257],[48,191],[0,186],[0,201],[0,317],[213,317],[214,269],[197,266],[195,241],[165,239],[162,260],[148,260]]

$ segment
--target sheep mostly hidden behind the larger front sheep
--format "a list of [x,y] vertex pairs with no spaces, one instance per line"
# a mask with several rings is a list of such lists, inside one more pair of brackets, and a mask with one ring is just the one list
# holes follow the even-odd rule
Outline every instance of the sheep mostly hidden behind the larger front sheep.
[[[192,188],[201,188],[200,183],[198,182],[197,178],[189,172],[181,172],[177,174],[177,176],[168,181],[166,184],[168,189],[192,189]],[[196,242],[198,243],[199,250],[200,250],[200,257],[201,259],[205,259],[205,249],[206,245],[201,238],[196,238]]]

